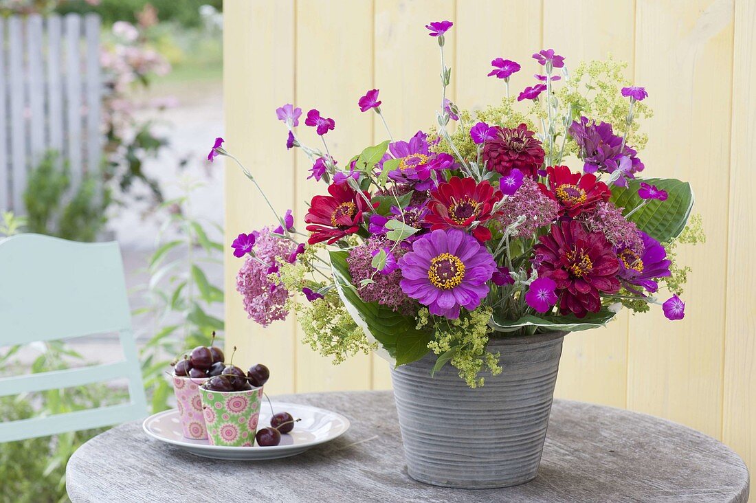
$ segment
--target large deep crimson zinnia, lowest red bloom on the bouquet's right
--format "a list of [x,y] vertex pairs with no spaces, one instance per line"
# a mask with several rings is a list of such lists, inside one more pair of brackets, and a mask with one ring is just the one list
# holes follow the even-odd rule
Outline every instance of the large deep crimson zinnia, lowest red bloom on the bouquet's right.
[[550,233],[538,239],[541,244],[534,247],[534,265],[539,277],[556,282],[562,315],[574,312],[583,318],[587,312],[598,312],[599,293],[619,290],[619,260],[600,232],[589,233],[571,220],[552,224]]

